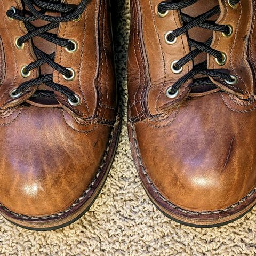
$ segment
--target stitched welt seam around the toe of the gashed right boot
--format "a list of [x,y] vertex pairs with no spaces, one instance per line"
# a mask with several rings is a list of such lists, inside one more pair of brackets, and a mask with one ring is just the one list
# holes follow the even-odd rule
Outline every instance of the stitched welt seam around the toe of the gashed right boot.
[[131,125],[132,128],[132,138],[134,141],[134,147],[135,147],[135,151],[136,151],[136,155],[138,157],[138,162],[141,166],[141,170],[143,172],[143,174],[146,177],[147,182],[149,183],[149,185],[154,189],[155,193],[157,193],[159,195],[159,197],[161,197],[161,199],[166,202],[169,206],[171,206],[173,209],[178,210],[180,212],[183,213],[189,213],[189,214],[193,214],[193,215],[210,215],[210,214],[216,214],[216,213],[221,213],[221,212],[226,212],[229,211],[230,209],[234,209],[235,207],[237,207],[239,204],[243,203],[248,197],[252,196],[254,193],[256,193],[256,188],[252,189],[250,191],[250,193],[248,193],[245,197],[243,197],[241,200],[239,200],[237,203],[230,205],[229,207],[225,208],[225,209],[221,209],[218,211],[202,211],[202,212],[197,212],[197,211],[189,211],[189,210],[185,210],[182,209],[181,207],[171,203],[169,200],[167,200],[164,196],[162,196],[162,194],[159,192],[159,190],[155,187],[153,181],[151,181],[151,179],[149,178],[149,175],[146,172],[145,167],[143,166],[142,163],[142,159],[140,157],[140,153],[139,153],[139,148],[138,148],[138,143],[137,143],[137,139],[135,137],[135,128],[133,125]]

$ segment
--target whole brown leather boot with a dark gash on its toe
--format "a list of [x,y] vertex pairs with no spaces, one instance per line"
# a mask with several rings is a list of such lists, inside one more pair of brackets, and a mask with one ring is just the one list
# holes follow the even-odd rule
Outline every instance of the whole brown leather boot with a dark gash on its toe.
[[256,2],[131,0],[129,135],[171,219],[212,227],[256,203]]

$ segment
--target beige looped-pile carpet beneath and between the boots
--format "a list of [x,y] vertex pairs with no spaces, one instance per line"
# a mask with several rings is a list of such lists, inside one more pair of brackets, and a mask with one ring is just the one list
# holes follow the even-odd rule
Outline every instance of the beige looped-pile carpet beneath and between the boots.
[[[126,107],[128,3],[123,9],[116,52]],[[115,162],[91,210],[69,227],[41,233],[0,218],[0,255],[256,255],[255,211],[225,227],[196,229],[181,226],[156,210],[132,163],[125,115]]]

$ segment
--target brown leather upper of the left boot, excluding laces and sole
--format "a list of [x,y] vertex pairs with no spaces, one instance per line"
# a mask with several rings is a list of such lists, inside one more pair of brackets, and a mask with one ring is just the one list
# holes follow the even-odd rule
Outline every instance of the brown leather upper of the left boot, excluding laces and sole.
[[53,82],[81,98],[81,105],[71,106],[58,92],[58,102],[31,99],[36,87],[10,97],[11,90],[42,71],[20,75],[36,56],[31,41],[23,50],[14,46],[27,30],[8,19],[11,6],[22,9],[19,0],[0,1],[0,203],[18,214],[50,215],[67,209],[90,187],[108,150],[118,107],[110,11],[108,1],[91,0],[81,20],[60,23],[57,36],[75,40],[76,52],[44,45],[55,51],[56,63],[75,70],[73,81],[53,71]]

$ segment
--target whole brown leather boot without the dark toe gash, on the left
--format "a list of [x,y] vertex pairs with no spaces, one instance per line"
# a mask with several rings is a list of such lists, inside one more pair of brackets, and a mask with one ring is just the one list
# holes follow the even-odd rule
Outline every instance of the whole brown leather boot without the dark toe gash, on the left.
[[0,1],[0,212],[60,228],[89,209],[119,134],[108,1]]

